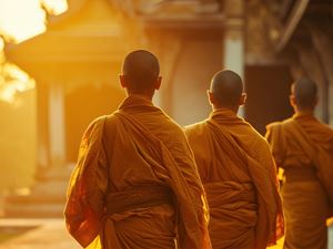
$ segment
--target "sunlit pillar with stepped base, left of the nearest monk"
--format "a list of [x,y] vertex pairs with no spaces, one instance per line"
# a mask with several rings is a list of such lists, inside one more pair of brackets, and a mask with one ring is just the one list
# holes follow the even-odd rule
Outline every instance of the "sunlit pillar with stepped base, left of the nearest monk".
[[8,217],[62,217],[71,167],[65,158],[64,95],[61,84],[38,85],[38,168],[29,193],[8,196]]

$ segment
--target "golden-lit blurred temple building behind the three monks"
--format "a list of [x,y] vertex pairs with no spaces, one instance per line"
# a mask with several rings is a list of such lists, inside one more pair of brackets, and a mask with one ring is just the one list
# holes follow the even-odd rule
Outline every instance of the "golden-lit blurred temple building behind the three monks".
[[[333,124],[332,1],[329,0],[69,0],[48,17],[47,32],[6,54],[37,82],[38,175],[28,196],[8,198],[8,214],[59,216],[81,135],[113,112],[124,92],[124,55],[149,49],[161,63],[154,98],[181,125],[208,116],[206,89],[222,69],[245,81],[243,115],[259,132],[292,114],[291,83],[320,85],[316,114]],[[331,98],[330,98],[331,96]],[[21,203],[31,205],[21,207]]]

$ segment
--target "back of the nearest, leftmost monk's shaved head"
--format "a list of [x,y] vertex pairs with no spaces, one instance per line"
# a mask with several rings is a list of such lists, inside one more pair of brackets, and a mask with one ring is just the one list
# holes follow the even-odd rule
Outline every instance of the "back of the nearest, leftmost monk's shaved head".
[[160,75],[159,60],[149,51],[133,51],[125,56],[122,73],[129,91],[133,93],[150,91],[154,89],[154,83]]

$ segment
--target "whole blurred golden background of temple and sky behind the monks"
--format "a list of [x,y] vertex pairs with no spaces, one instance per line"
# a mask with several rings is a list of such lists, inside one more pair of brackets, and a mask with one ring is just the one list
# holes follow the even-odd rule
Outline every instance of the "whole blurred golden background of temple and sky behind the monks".
[[124,97],[128,52],[159,56],[154,102],[181,125],[209,115],[205,91],[222,69],[244,79],[240,114],[260,133],[292,115],[290,85],[301,76],[319,84],[316,116],[332,125],[332,24],[331,0],[0,0],[0,242],[41,218],[63,228],[82,133]]

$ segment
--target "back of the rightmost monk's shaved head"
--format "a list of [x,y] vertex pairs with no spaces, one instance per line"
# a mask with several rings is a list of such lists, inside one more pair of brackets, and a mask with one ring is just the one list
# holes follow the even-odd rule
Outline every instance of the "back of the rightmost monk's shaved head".
[[295,104],[300,108],[314,108],[317,97],[317,86],[310,79],[301,79],[292,85]]

